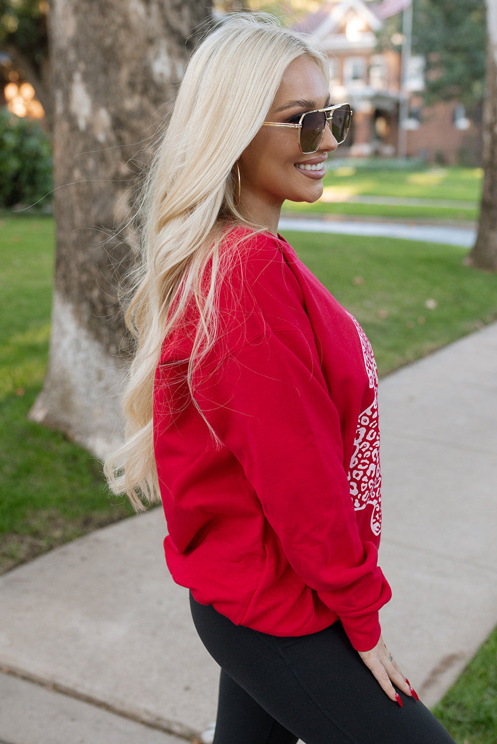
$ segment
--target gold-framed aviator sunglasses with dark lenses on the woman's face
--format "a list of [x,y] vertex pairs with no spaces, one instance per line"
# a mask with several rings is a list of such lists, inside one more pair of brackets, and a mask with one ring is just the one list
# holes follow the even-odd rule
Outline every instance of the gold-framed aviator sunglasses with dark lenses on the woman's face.
[[341,144],[345,141],[351,119],[350,104],[338,103],[336,106],[326,106],[326,109],[306,111],[300,117],[298,124],[279,123],[277,121],[265,121],[263,124],[265,126],[291,126],[293,129],[298,129],[300,152],[303,155],[310,155],[319,150],[326,122],[332,130],[335,140],[338,144]]

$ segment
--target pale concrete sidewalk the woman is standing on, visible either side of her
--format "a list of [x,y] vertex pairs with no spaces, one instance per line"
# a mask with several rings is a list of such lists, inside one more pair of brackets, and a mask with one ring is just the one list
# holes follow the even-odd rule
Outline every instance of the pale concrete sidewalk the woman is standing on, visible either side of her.
[[[428,705],[497,622],[497,324],[380,384],[384,638]],[[218,670],[162,554],[160,510],[0,577],[0,742],[172,744]]]

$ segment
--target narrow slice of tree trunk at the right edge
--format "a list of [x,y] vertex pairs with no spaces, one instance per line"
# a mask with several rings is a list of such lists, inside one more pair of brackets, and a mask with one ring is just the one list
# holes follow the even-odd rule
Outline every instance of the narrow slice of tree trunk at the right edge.
[[497,0],[487,0],[487,100],[484,104],[483,165],[478,236],[467,263],[497,272]]

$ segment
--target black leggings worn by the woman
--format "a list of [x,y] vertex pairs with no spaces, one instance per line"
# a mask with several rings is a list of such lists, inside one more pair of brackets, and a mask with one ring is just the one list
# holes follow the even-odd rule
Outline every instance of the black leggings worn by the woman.
[[422,702],[385,695],[341,623],[277,638],[190,606],[221,667],[214,744],[455,744]]

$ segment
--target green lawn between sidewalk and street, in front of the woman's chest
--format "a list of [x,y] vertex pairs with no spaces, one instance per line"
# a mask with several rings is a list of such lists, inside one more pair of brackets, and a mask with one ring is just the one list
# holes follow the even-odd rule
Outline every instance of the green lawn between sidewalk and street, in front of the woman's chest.
[[291,231],[285,237],[364,326],[380,375],[497,318],[497,275],[463,266],[465,248]]

